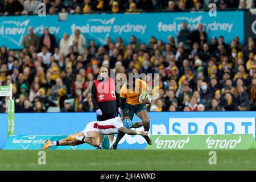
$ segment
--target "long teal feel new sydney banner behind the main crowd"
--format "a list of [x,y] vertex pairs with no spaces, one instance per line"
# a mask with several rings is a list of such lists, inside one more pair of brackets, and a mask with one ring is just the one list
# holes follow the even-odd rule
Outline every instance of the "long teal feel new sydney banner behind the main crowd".
[[57,42],[65,32],[71,35],[77,28],[85,35],[87,43],[94,39],[102,45],[107,37],[115,40],[121,36],[127,44],[132,35],[140,43],[148,43],[151,36],[166,42],[169,35],[176,37],[183,21],[188,23],[189,30],[195,30],[199,22],[203,23],[208,39],[222,35],[227,43],[234,36],[238,36],[241,42],[244,40],[243,11],[220,11],[216,17],[209,16],[208,12],[68,15],[66,21],[60,21],[58,15],[31,15],[1,16],[0,46],[21,49],[30,26],[37,35],[42,35],[44,28],[48,27]]

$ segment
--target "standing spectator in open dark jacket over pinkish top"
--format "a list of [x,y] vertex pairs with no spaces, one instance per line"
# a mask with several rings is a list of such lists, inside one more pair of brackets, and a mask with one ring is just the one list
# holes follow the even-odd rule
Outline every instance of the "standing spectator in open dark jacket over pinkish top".
[[56,47],[55,36],[49,33],[48,28],[44,28],[44,34],[40,38],[39,49],[41,50],[43,46],[46,46],[51,53],[54,52]]

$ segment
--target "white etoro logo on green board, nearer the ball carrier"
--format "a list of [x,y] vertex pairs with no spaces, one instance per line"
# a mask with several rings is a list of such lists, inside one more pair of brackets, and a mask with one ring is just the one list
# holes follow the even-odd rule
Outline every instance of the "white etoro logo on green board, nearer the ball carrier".
[[155,140],[156,148],[168,148],[168,149],[175,149],[175,148],[183,148],[185,144],[189,142],[189,136],[187,139],[178,139],[178,140],[161,140],[161,136],[159,136]]

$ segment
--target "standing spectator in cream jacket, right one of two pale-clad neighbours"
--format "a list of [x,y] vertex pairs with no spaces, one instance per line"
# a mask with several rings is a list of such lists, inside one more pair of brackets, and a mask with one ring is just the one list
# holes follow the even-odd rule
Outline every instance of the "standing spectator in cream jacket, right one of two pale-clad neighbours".
[[75,33],[69,37],[69,46],[72,46],[74,51],[78,52],[79,54],[84,53],[86,41],[84,35],[80,34],[80,30],[75,30]]

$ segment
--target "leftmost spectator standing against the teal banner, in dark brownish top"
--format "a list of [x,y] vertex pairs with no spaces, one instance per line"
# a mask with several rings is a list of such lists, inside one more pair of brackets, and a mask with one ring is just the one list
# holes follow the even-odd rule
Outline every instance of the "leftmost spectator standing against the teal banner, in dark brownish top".
[[29,48],[30,46],[34,46],[36,50],[39,48],[39,37],[35,35],[33,27],[28,27],[28,34],[23,39],[23,48]]

